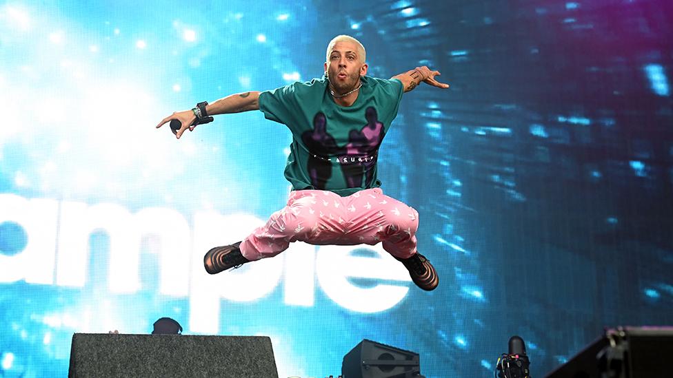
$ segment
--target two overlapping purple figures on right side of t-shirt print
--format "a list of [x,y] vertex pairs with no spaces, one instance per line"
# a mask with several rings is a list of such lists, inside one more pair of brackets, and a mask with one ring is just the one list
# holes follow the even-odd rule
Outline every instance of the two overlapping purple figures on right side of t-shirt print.
[[379,146],[385,136],[383,123],[379,122],[374,107],[365,110],[365,118],[367,124],[359,132],[350,132],[348,144],[345,145],[345,156],[339,156],[341,171],[350,188],[361,187],[363,176],[367,187],[372,185]]

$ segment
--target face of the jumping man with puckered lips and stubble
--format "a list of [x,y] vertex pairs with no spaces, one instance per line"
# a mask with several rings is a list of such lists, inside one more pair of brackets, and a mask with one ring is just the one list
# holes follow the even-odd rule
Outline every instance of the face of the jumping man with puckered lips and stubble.
[[360,76],[367,74],[367,65],[359,56],[357,45],[337,42],[330,51],[330,61],[325,63],[325,71],[334,90],[343,94],[357,85]]

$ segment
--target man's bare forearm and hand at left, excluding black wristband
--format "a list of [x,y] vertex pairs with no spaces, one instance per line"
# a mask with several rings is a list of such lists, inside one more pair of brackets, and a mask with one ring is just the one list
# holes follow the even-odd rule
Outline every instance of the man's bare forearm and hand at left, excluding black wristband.
[[[208,104],[208,106],[205,107],[205,112],[208,113],[209,116],[214,116],[216,114],[230,114],[258,110],[259,93],[260,92],[257,91],[243,92],[220,98],[214,103]],[[191,132],[194,127],[196,127],[192,126],[192,123],[197,119],[197,116],[191,110],[184,110],[183,112],[174,112],[170,116],[163,118],[161,122],[159,122],[159,125],[157,125],[157,129],[174,119],[177,119],[182,123],[182,127],[175,134],[178,139],[186,129],[190,129]]]

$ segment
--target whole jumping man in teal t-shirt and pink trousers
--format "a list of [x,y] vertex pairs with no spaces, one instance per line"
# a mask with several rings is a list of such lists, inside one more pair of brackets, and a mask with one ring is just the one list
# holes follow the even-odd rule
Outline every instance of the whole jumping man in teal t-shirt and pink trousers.
[[177,138],[215,114],[261,110],[286,125],[292,145],[285,178],[292,183],[288,204],[241,242],[205,254],[210,274],[273,257],[297,240],[308,244],[383,244],[426,291],[439,284],[434,266],[416,249],[419,213],[385,196],[376,178],[379,147],[397,115],[402,94],[420,83],[446,89],[438,71],[416,67],[390,78],[365,76],[365,48],[351,36],[330,41],[325,76],[276,90],[245,92],[199,103],[163,118],[181,127]]

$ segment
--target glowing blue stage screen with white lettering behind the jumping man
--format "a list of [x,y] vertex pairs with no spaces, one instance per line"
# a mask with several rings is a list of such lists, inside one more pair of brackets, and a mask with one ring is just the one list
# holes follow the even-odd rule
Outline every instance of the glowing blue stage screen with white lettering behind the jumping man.
[[[672,19],[667,0],[1,2],[0,376],[64,376],[72,333],[163,316],[270,335],[281,377],[338,375],[363,338],[427,377],[492,377],[513,334],[541,376],[603,326],[671,325]],[[153,126],[320,76],[343,33],[372,76],[452,84],[405,94],[379,160],[441,286],[335,291],[343,250],[306,246],[203,278],[209,245],[285,203],[290,133],[260,112],[179,141]],[[390,308],[358,302],[377,284]]]

